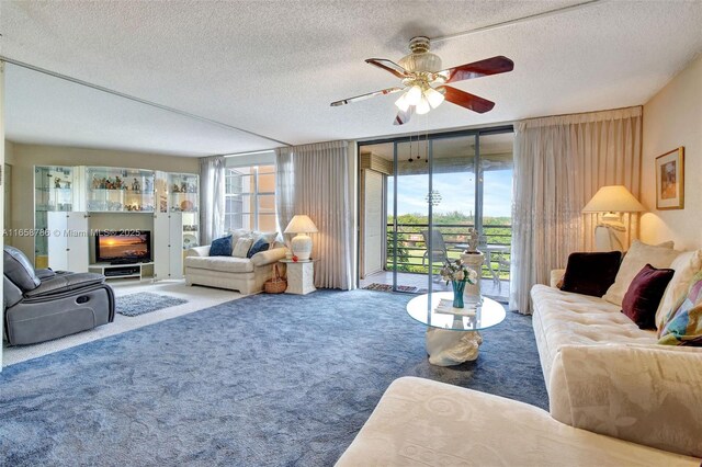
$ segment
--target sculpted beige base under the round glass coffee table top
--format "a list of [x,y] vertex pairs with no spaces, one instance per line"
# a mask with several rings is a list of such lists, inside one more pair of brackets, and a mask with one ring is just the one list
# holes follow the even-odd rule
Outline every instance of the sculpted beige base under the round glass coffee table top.
[[432,365],[451,366],[476,360],[482,343],[478,331],[427,329],[427,353]]

